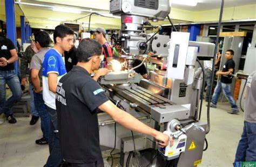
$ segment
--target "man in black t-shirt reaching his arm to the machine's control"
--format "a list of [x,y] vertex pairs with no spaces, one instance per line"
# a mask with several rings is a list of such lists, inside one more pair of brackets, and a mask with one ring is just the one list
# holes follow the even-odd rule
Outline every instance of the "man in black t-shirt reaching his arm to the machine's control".
[[128,129],[154,136],[160,147],[169,144],[169,136],[120,110],[91,78],[91,72],[99,68],[101,54],[100,43],[83,39],[77,49],[77,66],[63,76],[57,86],[60,148],[68,166],[104,166],[99,147],[98,109]]

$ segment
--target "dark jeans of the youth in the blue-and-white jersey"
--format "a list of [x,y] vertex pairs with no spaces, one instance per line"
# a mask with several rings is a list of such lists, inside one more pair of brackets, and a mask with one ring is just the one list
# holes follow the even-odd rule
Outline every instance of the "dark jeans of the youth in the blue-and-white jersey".
[[47,106],[50,117],[49,151],[50,155],[44,167],[55,167],[62,163],[63,157],[60,153],[59,134],[57,132],[57,112]]

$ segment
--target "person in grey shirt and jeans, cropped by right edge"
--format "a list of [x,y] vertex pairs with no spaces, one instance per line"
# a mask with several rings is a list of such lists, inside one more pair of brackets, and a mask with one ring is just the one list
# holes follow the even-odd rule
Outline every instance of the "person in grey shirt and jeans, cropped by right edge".
[[244,161],[256,161],[256,71],[247,78],[244,130],[233,164],[240,166]]

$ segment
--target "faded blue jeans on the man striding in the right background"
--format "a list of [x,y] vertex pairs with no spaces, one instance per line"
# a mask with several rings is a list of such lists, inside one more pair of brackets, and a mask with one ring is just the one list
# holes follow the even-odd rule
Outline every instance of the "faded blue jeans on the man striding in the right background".
[[212,100],[211,100],[211,102],[214,105],[217,105],[220,92],[221,92],[221,90],[223,90],[224,96],[227,98],[228,102],[230,102],[231,107],[234,109],[238,108],[237,104],[235,104],[233,97],[231,96],[231,86],[230,85],[231,84],[221,83],[220,81],[217,83],[217,86],[214,89],[214,93],[213,93]]

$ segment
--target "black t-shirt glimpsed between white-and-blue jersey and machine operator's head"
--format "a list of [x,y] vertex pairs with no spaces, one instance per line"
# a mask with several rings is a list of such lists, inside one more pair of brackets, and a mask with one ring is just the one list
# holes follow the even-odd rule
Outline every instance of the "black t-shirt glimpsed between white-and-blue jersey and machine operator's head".
[[77,48],[74,46],[69,52],[64,52],[66,72],[77,64]]

